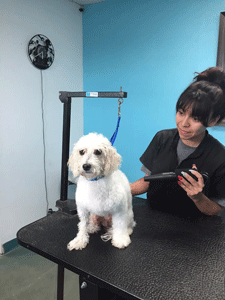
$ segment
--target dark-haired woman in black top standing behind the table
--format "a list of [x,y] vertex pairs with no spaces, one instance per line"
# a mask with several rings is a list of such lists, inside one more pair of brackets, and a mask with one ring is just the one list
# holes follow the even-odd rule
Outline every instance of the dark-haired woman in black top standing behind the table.
[[[192,169],[198,181],[187,173],[177,182],[141,178],[131,184],[132,194],[147,192],[153,209],[176,215],[220,214],[225,207],[225,147],[206,128],[223,118],[225,73],[213,67],[198,74],[178,99],[177,128],[158,132],[140,158],[146,176]],[[201,172],[209,175],[205,184]]]

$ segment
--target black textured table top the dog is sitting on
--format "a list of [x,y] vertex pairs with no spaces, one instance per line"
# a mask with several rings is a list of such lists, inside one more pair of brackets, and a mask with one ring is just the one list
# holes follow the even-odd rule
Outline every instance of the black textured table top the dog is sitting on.
[[83,250],[67,250],[78,217],[62,212],[19,230],[20,245],[127,299],[225,299],[225,218],[182,219],[134,199],[137,225],[126,249],[91,235]]

